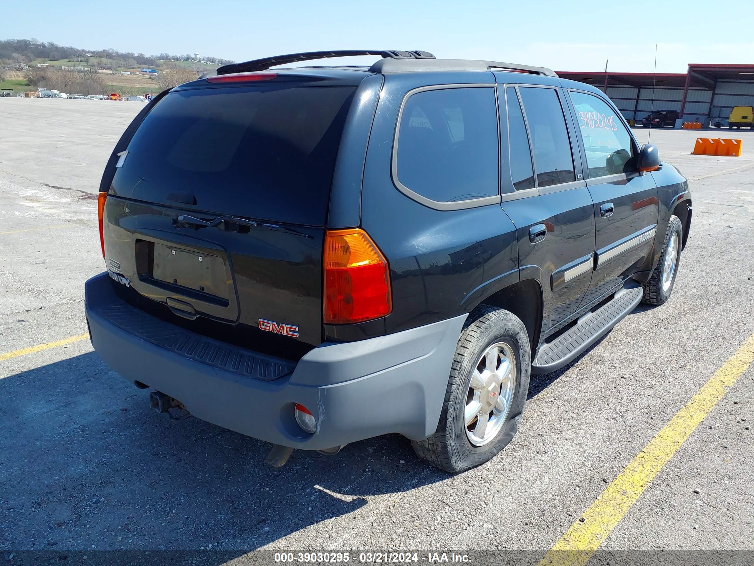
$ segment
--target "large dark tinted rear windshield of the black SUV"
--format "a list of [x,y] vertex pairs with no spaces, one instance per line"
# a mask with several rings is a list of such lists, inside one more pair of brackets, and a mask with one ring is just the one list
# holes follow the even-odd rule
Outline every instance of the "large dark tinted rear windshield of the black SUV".
[[323,226],[354,90],[288,83],[171,92],[134,134],[112,190],[178,208]]

